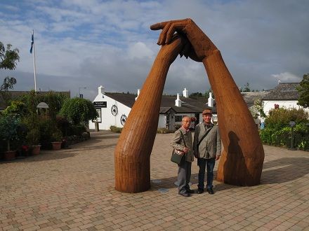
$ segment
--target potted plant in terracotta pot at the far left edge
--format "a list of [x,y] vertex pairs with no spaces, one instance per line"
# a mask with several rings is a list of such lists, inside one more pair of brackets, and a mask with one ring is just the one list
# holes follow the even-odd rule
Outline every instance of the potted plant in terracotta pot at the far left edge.
[[11,150],[11,142],[18,139],[18,127],[20,120],[13,116],[0,117],[0,138],[6,141],[6,151],[4,151],[4,160],[14,160],[16,150]]

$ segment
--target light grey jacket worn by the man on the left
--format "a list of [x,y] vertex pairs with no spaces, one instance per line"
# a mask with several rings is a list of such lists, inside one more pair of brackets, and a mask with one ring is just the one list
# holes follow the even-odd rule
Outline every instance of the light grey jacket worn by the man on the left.
[[[183,142],[183,137],[181,136],[180,131],[183,132],[185,143]],[[190,149],[188,153],[185,154],[185,160],[188,162],[193,162],[194,155],[193,155],[193,147],[192,147],[192,133],[190,131],[186,132],[183,129],[183,127],[180,127],[180,129],[178,129],[174,134],[174,137],[171,141],[171,146],[174,149],[183,151],[183,149],[185,148],[185,145],[187,146],[187,148]]]

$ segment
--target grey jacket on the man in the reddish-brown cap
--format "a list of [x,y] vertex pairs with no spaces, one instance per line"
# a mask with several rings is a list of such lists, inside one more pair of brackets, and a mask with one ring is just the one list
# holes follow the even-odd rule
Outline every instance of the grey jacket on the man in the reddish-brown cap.
[[204,126],[204,122],[199,123],[195,127],[195,139],[193,141],[193,150],[197,153],[199,158],[214,158],[216,155],[221,155],[221,138],[219,133],[219,128],[217,125],[213,125],[212,127],[208,128],[211,129],[209,134],[202,140],[201,144],[197,148],[198,142],[202,139],[204,134],[206,133],[206,129]]

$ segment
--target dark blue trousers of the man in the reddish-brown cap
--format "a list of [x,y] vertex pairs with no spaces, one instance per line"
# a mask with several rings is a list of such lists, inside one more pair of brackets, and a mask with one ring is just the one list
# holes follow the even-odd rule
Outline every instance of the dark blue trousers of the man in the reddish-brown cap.
[[207,167],[207,185],[206,188],[213,187],[213,168],[215,167],[216,158],[204,159],[197,158],[197,165],[199,165],[199,184],[197,187],[204,190],[205,167]]

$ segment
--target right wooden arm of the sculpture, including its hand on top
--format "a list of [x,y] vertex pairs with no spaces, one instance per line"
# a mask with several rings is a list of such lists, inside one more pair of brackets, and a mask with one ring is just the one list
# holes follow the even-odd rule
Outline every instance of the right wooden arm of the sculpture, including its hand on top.
[[190,19],[160,22],[150,28],[162,29],[158,45],[171,43],[176,31],[186,36],[190,43],[185,44],[180,55],[203,62],[205,66],[216,95],[218,125],[224,147],[217,179],[235,186],[258,185],[263,169],[263,146],[251,113],[220,51]]

